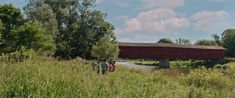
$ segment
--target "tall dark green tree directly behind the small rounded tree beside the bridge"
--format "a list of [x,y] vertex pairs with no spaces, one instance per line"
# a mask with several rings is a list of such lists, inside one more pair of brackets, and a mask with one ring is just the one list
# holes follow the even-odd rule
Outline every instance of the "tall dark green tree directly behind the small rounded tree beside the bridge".
[[115,40],[114,26],[105,20],[105,14],[100,11],[91,11],[87,13],[89,18],[83,17],[79,22],[79,30],[74,34],[72,46],[75,47],[74,54],[82,57],[91,57],[92,46],[98,42],[104,35],[110,36]]

